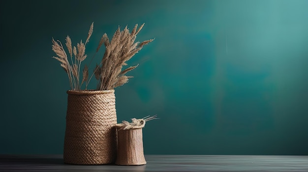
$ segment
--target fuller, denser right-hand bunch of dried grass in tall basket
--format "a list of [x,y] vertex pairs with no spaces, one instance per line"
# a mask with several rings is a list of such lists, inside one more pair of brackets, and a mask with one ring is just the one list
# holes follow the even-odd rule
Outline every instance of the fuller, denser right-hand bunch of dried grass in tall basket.
[[123,66],[126,65],[125,62],[142,49],[144,45],[153,41],[153,39],[151,39],[142,43],[135,42],[136,36],[143,25],[141,25],[138,30],[138,25],[135,25],[131,33],[129,33],[127,26],[122,31],[119,27],[110,42],[107,35],[103,35],[101,38],[103,41],[101,42],[104,42],[106,51],[101,63],[98,65],[99,69],[95,69],[100,71],[97,90],[113,89],[128,81],[129,77],[124,77],[124,74],[135,69],[138,65],[129,67],[122,71]]

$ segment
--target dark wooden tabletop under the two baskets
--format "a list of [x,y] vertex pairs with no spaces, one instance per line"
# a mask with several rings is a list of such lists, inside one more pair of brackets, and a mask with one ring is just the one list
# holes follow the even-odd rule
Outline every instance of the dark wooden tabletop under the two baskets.
[[146,165],[69,165],[62,155],[0,155],[0,172],[308,172],[308,156],[146,155]]

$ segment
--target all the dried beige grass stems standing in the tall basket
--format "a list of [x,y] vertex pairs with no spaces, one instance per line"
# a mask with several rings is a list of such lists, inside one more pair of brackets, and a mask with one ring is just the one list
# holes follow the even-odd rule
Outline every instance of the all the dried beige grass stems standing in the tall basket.
[[[66,48],[68,50],[70,60],[69,62],[67,53],[65,52],[62,43],[58,40],[55,41],[52,39],[52,50],[57,54],[58,57],[53,57],[61,62],[61,67],[68,75],[69,83],[71,90],[81,91],[81,86],[83,83],[86,83],[87,86],[94,75],[98,80],[98,84],[96,90],[110,90],[115,87],[121,86],[125,84],[128,79],[132,76],[126,76],[125,74],[133,69],[136,66],[128,67],[122,70],[123,66],[127,65],[126,61],[128,61],[132,56],[134,56],[140,49],[143,48],[144,45],[152,42],[154,39],[150,39],[143,42],[135,42],[136,36],[139,31],[144,26],[141,25],[137,28],[137,24],[133,28],[131,32],[129,32],[127,26],[121,31],[120,26],[117,31],[114,33],[111,41],[107,34],[105,33],[97,46],[95,54],[98,52],[100,47],[104,44],[106,47],[105,53],[102,57],[101,62],[94,68],[93,74],[89,79],[89,68],[85,65],[82,71],[82,80],[80,82],[80,68],[81,62],[87,58],[86,52],[86,44],[89,42],[90,37],[93,32],[93,23],[90,26],[90,30],[88,32],[88,37],[86,42],[83,43],[82,40],[80,43],[77,43],[77,46],[72,47],[71,39],[69,36],[66,37]],[[59,43],[58,43],[59,42]],[[95,55],[94,55],[95,56]],[[70,64],[71,63],[71,64]]]

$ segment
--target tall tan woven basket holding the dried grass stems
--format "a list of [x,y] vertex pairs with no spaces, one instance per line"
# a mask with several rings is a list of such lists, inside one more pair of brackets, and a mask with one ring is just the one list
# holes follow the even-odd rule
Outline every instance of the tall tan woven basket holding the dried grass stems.
[[64,163],[114,163],[117,156],[114,90],[67,91],[67,94]]

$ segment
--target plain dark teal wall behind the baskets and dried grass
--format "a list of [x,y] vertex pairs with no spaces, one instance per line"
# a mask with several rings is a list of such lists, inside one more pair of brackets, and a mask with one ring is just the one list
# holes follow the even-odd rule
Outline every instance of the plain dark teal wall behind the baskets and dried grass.
[[62,153],[69,83],[51,39],[77,44],[94,22],[90,57],[119,25],[145,23],[137,40],[155,38],[128,62],[139,63],[134,78],[116,88],[119,123],[160,118],[143,129],[145,154],[308,155],[308,0],[0,6],[0,153]]

